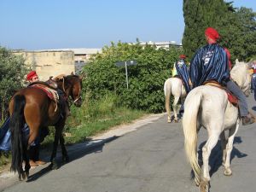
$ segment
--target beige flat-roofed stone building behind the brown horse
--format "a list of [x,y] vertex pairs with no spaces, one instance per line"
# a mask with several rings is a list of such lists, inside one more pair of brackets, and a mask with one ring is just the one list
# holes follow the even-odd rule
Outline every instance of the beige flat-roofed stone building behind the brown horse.
[[38,73],[40,80],[59,74],[79,73],[92,55],[101,53],[101,49],[44,49],[35,51],[13,50],[22,55],[28,67]]

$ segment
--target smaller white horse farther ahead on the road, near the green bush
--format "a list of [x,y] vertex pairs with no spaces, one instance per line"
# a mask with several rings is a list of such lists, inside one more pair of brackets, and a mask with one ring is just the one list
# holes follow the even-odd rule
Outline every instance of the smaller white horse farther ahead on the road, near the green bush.
[[164,91],[166,96],[166,112],[168,114],[168,123],[171,123],[171,108],[170,108],[170,97],[174,96],[174,101],[172,103],[174,121],[177,123],[177,102],[181,98],[183,103],[185,96],[187,96],[186,90],[183,86],[183,82],[178,78],[169,78],[164,84]]

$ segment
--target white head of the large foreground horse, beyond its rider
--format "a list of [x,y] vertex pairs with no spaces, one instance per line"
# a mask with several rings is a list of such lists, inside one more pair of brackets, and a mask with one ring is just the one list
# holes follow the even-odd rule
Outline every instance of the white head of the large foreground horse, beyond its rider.
[[236,65],[232,68],[231,78],[238,84],[246,96],[250,95],[251,75],[246,62],[236,60]]

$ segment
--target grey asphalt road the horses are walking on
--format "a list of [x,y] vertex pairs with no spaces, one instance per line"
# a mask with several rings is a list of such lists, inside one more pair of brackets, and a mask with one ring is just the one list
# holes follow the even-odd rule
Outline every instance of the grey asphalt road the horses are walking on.
[[[256,110],[253,97],[250,108]],[[253,113],[255,111],[253,110]],[[123,126],[88,148],[81,143],[70,147],[71,161],[58,170],[49,164],[33,169],[28,182],[18,177],[0,177],[0,191],[63,192],[194,192],[198,191],[183,150],[181,124],[167,124],[167,117],[144,119],[144,123]],[[240,126],[231,154],[233,175],[224,176],[220,143],[210,157],[211,188],[214,192],[256,191],[256,124]],[[126,131],[131,131],[125,133]],[[199,133],[199,154],[207,131]],[[96,147],[97,146],[97,147]],[[61,160],[61,158],[59,158]]]

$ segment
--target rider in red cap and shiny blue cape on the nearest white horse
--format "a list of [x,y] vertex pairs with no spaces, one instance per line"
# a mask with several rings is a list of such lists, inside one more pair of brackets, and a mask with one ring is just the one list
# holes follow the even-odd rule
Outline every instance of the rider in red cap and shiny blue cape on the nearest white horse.
[[207,45],[198,49],[191,61],[189,75],[193,88],[207,81],[217,81],[226,86],[238,99],[242,125],[253,124],[254,120],[248,112],[246,97],[241,89],[230,80],[230,64],[227,50],[217,44],[218,32],[208,27],[205,31]]

